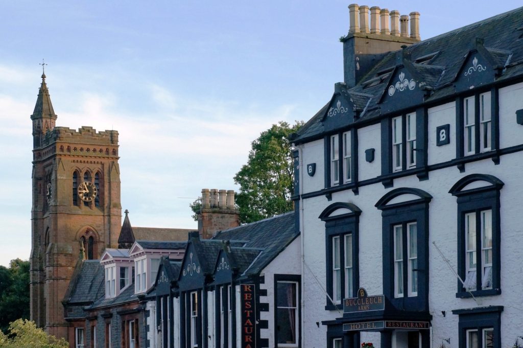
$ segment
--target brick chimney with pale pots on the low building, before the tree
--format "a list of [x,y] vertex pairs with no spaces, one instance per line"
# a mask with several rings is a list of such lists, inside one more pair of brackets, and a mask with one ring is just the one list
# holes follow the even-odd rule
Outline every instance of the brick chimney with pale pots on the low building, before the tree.
[[211,238],[218,231],[240,226],[240,211],[234,204],[234,190],[201,190],[201,210],[198,214],[198,232],[202,239]]

